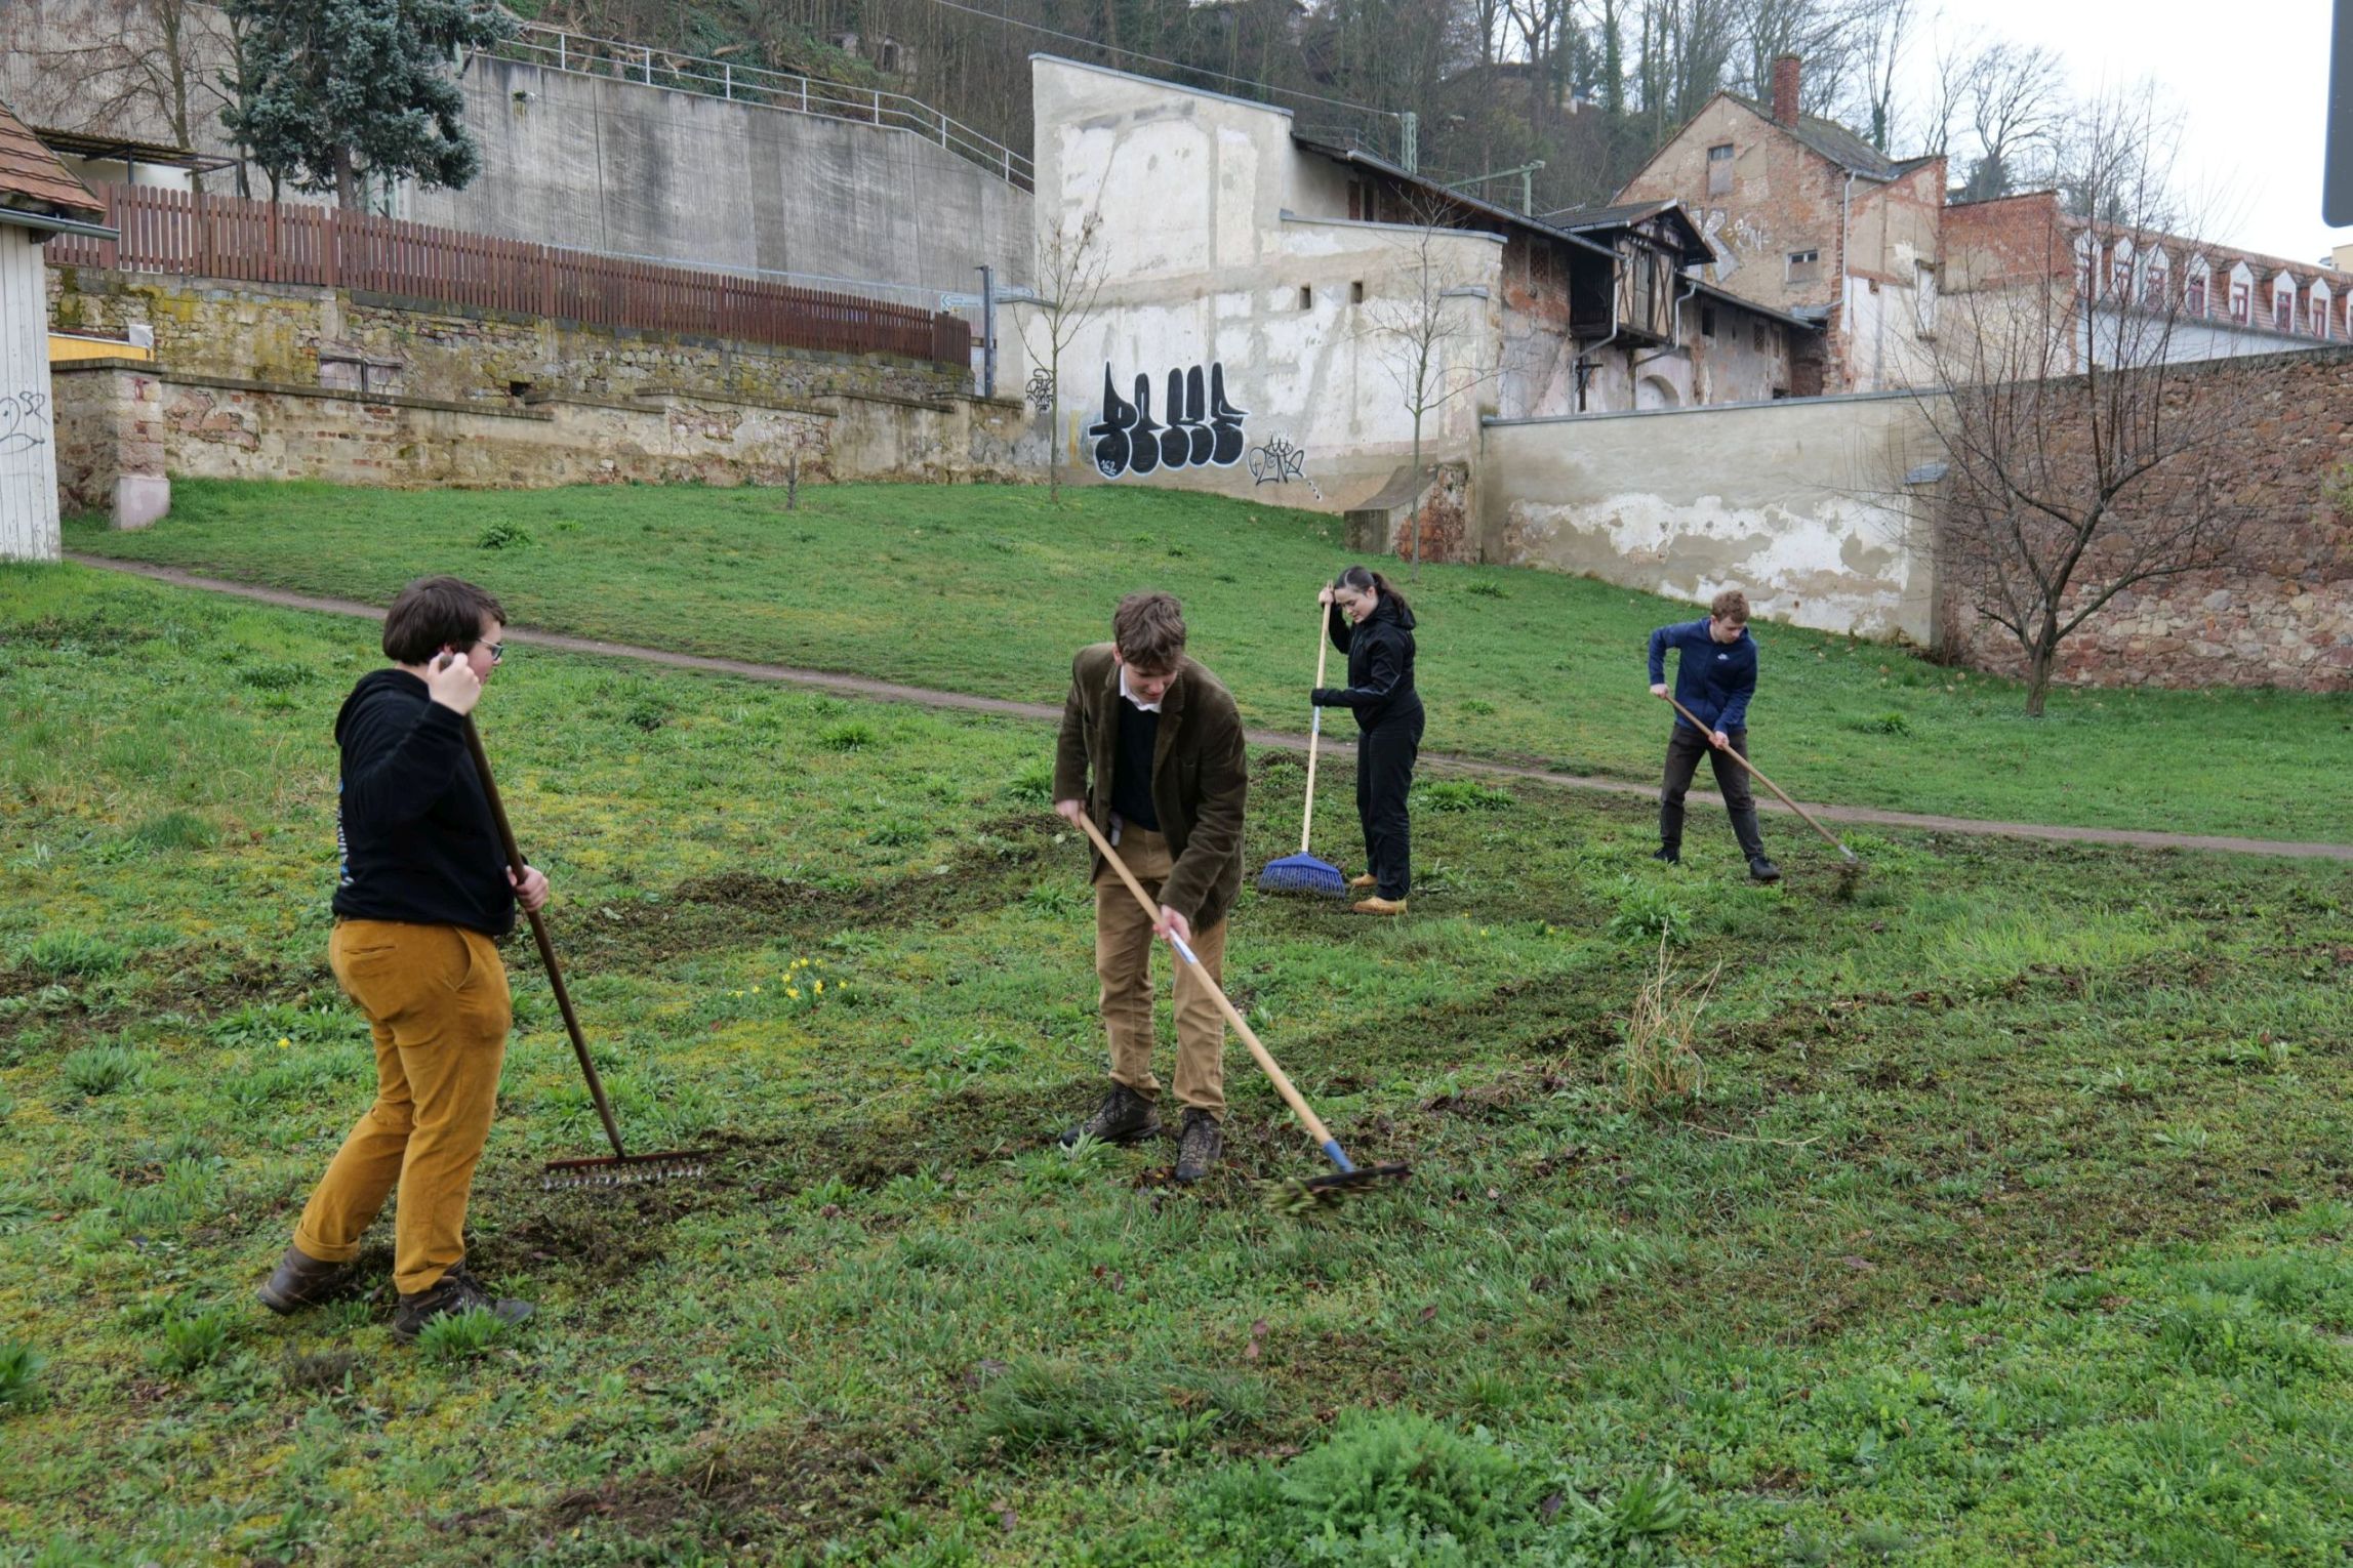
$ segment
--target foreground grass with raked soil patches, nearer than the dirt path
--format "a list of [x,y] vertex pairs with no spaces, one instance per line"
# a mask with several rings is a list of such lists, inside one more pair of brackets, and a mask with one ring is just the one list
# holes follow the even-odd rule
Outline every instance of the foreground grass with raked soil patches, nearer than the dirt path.
[[[2344,1561],[2341,867],[1913,835],[1840,900],[1435,788],[1412,919],[1235,917],[1273,1051],[1417,1166],[1294,1218],[1238,1048],[1202,1190],[1052,1145],[1101,1044],[1040,726],[553,654],[482,708],[508,806],[624,1126],[722,1159],[536,1187],[598,1135],[513,943],[471,1234],[539,1319],[273,1319],[369,1084],[325,943],[372,639],[0,571],[0,1563]],[[1706,1084],[1638,1110],[1661,933],[1720,969]]]

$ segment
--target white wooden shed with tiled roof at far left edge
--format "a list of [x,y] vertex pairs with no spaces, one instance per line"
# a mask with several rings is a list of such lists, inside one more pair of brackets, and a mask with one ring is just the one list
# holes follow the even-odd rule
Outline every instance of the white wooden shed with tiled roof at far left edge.
[[113,237],[89,186],[0,103],[0,557],[56,559],[56,418],[49,402],[52,235]]

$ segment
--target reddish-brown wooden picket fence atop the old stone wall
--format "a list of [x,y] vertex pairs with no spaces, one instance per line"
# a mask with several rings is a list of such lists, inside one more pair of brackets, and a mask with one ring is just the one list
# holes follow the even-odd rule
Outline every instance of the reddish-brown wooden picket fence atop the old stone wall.
[[106,226],[120,237],[59,235],[49,263],[369,289],[593,327],[972,364],[972,327],[960,315],[334,207],[108,186]]

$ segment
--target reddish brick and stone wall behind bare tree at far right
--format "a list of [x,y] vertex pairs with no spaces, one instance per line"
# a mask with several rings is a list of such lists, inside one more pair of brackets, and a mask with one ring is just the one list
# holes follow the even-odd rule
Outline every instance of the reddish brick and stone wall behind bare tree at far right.
[[[2353,689],[2353,522],[2339,501],[2353,461],[2353,350],[2217,360],[2184,381],[2249,409],[2238,440],[2200,463],[2240,510],[2233,559],[2118,595],[2059,646],[2059,679]],[[2162,510],[2200,477],[2160,468],[2125,501]],[[1941,644],[1974,668],[2019,672],[2017,642],[1977,621],[1965,590],[1944,583]]]

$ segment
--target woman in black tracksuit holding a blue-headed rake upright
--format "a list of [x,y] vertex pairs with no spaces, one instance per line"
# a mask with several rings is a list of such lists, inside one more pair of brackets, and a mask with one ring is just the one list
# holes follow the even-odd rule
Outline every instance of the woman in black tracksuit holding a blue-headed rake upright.
[[[1414,788],[1421,752],[1421,698],[1414,693],[1414,611],[1379,571],[1348,567],[1322,590],[1332,646],[1348,656],[1346,686],[1318,686],[1318,708],[1353,708],[1355,813],[1365,820],[1367,875],[1348,886],[1372,889],[1358,914],[1405,914],[1414,884],[1412,830],[1405,792]],[[1353,623],[1353,625],[1351,625]]]

